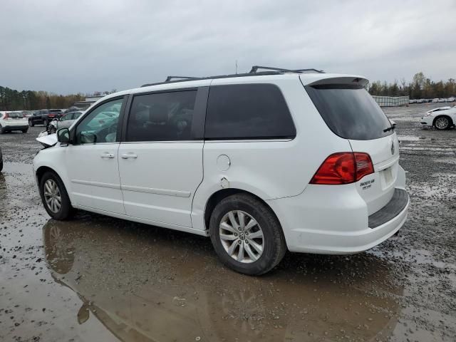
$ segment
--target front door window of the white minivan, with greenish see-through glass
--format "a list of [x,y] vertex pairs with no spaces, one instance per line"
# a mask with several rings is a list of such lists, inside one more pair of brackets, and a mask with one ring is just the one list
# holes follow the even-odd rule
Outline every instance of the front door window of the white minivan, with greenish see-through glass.
[[76,144],[115,142],[123,99],[112,100],[90,112],[76,128]]

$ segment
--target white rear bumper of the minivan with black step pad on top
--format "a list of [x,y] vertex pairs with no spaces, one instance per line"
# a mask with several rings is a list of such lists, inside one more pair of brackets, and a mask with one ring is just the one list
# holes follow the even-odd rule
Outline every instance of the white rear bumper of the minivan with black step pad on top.
[[393,199],[371,216],[350,185],[308,185],[299,196],[266,202],[276,212],[291,252],[354,254],[398,232],[407,219],[410,199],[396,188]]

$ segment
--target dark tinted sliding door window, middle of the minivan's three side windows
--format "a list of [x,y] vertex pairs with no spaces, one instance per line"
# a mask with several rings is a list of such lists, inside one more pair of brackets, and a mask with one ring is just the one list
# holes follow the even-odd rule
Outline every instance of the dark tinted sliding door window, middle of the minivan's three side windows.
[[196,95],[186,90],[135,96],[126,141],[192,140]]

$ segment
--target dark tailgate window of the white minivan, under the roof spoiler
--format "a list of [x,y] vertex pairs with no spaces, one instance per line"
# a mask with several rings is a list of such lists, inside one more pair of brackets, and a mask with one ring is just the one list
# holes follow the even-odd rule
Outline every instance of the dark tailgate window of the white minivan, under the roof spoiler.
[[326,125],[345,139],[372,140],[393,134],[383,110],[362,86],[306,86]]

